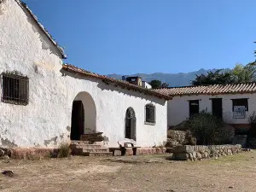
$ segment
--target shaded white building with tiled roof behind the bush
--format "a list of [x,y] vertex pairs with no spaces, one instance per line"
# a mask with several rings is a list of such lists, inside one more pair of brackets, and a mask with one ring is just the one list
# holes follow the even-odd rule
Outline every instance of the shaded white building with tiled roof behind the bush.
[[256,112],[256,83],[171,87],[157,91],[172,96],[168,101],[168,127],[202,110],[235,127],[247,127],[248,117]]

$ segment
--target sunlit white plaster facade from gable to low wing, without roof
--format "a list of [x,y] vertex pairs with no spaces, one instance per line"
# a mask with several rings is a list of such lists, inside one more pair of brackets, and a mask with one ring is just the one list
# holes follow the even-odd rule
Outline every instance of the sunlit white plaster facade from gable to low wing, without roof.
[[[84,129],[102,131],[108,146],[118,146],[124,139],[125,112],[130,107],[137,119],[137,146],[166,141],[164,99],[61,70],[58,49],[17,2],[0,3],[0,73],[27,76],[29,102],[22,106],[0,101],[1,146],[53,147],[69,141],[74,100],[84,104]],[[156,109],[155,125],[144,123],[148,103]]]

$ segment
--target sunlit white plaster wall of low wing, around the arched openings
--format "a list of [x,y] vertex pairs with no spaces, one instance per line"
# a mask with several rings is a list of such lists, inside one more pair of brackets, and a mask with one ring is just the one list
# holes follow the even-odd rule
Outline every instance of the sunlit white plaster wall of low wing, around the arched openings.
[[[136,113],[138,146],[152,147],[154,144],[160,145],[166,141],[167,102],[165,100],[107,85],[101,80],[84,79],[79,75],[65,73],[68,74],[64,78],[66,86],[70,89],[67,98],[69,108],[67,119],[71,119],[70,111],[72,110],[73,99],[79,92],[86,91],[96,104],[96,131],[102,131],[103,135],[108,137],[109,146],[117,146],[117,142],[124,139],[125,113],[130,107]],[[156,109],[155,125],[144,123],[145,105],[148,103],[153,103]],[[68,120],[67,125],[70,124],[71,122]]]

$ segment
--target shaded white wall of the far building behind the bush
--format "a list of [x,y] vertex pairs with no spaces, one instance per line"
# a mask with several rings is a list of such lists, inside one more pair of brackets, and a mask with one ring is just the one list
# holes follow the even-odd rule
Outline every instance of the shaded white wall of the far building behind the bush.
[[[256,112],[256,94],[227,94],[218,96],[200,95],[200,96],[174,96],[171,101],[168,101],[168,126],[177,125],[189,117],[189,100],[200,100],[199,108],[212,113],[211,98],[222,98],[223,103],[223,119],[229,124],[247,124],[247,118],[254,111]],[[232,112],[232,99],[248,99],[248,111],[245,119],[234,119]]]

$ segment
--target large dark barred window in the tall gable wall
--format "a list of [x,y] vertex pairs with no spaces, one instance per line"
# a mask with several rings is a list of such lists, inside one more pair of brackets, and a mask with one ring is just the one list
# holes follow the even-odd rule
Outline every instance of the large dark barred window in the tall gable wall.
[[2,102],[28,104],[29,79],[14,73],[2,73]]

